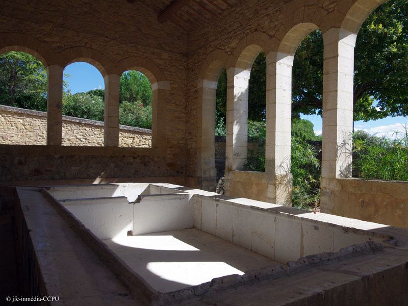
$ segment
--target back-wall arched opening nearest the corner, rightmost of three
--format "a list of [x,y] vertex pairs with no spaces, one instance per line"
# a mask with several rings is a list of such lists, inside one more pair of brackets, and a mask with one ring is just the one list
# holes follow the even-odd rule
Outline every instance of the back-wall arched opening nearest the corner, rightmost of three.
[[119,82],[119,146],[151,147],[152,91],[139,71],[122,73]]

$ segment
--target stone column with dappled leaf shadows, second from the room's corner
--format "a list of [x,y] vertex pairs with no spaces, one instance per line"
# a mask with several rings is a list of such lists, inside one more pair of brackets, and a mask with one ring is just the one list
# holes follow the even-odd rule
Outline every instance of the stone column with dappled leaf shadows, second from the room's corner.
[[232,170],[241,170],[248,154],[248,82],[250,69],[227,71],[225,195],[232,191]]

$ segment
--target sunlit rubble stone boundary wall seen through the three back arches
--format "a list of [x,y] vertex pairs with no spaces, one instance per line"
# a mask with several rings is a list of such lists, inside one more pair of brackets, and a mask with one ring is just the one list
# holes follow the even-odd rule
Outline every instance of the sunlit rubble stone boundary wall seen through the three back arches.
[[[0,144],[46,145],[47,113],[0,105]],[[104,146],[104,122],[62,116],[62,145]],[[151,130],[119,125],[120,147],[151,147]]]

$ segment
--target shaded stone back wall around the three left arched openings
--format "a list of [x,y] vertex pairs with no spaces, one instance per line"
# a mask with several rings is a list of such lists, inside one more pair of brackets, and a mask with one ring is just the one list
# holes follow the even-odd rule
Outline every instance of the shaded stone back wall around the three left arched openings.
[[[197,186],[195,177],[185,177],[187,32],[171,22],[159,23],[157,13],[140,1],[125,1],[118,6],[112,1],[103,4],[74,1],[56,5],[49,0],[37,4],[17,0],[4,3],[2,16],[0,54],[16,50],[27,52],[37,57],[47,69],[48,107],[52,110],[48,140],[51,138],[53,141],[49,143],[55,147],[0,144],[0,159],[3,161],[0,181],[34,181],[40,177],[41,180],[56,180],[63,175],[54,175],[48,170],[41,176],[25,175],[27,171],[38,172],[36,169],[48,169],[49,163],[55,163],[53,169],[69,172],[69,176],[75,176],[77,180],[96,180],[98,176],[107,175],[130,179],[135,175],[153,178],[170,175],[183,181],[184,185]],[[104,77],[105,90],[109,91],[106,101],[108,120],[105,121],[109,122],[108,130],[114,133],[105,133],[107,147],[59,145],[62,71],[68,64],[79,61],[94,65]],[[152,138],[157,143],[152,143],[151,148],[118,148],[118,142],[112,141],[118,130],[115,92],[118,94],[119,84],[116,81],[126,70],[141,71],[149,78],[154,98],[160,105],[153,105],[152,109],[152,117],[156,120],[156,126],[152,126]],[[43,156],[45,154],[48,154],[47,158]],[[118,164],[112,165],[109,171],[104,169],[107,161],[116,158]],[[81,164],[90,162],[104,166]],[[24,170],[23,163],[29,163],[27,170]],[[63,168],[58,168],[57,164]],[[79,170],[73,173],[71,167]],[[98,176],[91,177],[86,172],[88,167],[98,168],[92,172]],[[138,170],[133,171],[134,167]]]

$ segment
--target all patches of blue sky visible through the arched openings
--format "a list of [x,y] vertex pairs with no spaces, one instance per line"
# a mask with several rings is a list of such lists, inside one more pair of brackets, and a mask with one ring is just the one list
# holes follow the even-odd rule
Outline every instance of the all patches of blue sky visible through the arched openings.
[[[68,65],[64,73],[70,74],[71,78],[64,78],[68,82],[68,88],[71,89],[71,93],[86,92],[92,89],[104,89],[104,78],[94,66],[84,62],[77,62]],[[305,116],[301,118],[312,121],[314,125],[314,131],[316,135],[322,133],[322,118],[317,115]],[[370,134],[377,136],[392,137],[395,131],[403,131],[404,125],[408,125],[407,117],[388,117],[384,119],[378,119],[375,121],[355,121],[355,130],[364,130]]]

